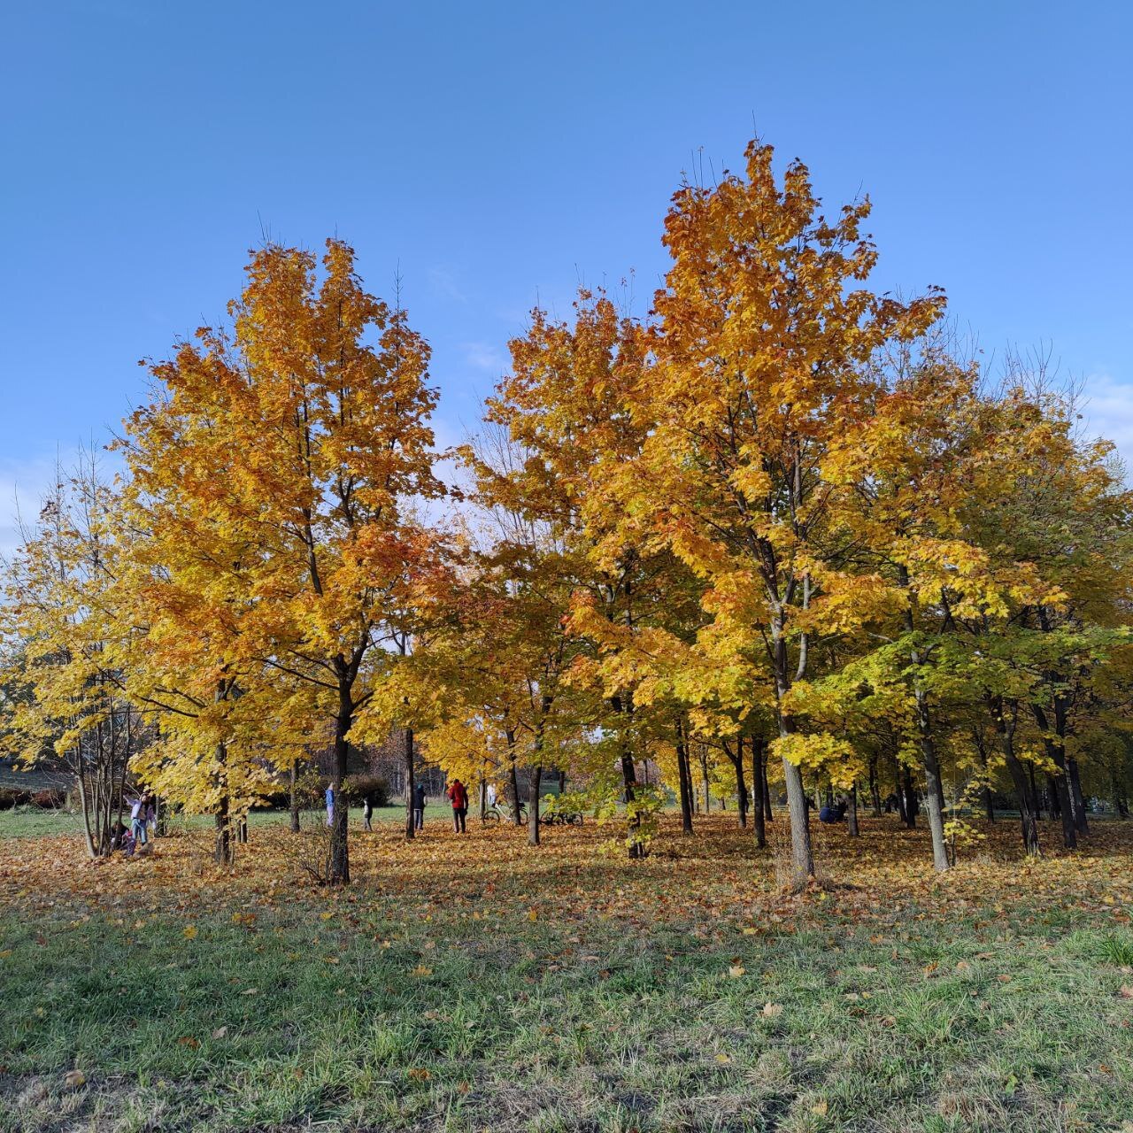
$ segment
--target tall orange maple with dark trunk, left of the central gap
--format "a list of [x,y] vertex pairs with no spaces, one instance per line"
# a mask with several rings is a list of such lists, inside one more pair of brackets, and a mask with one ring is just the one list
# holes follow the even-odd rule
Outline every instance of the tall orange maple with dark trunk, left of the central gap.
[[428,347],[400,307],[364,289],[348,245],[329,240],[317,267],[305,250],[261,249],[230,305],[232,326],[203,329],[153,372],[173,398],[211,389],[215,462],[186,491],[198,493],[191,506],[211,511],[211,522],[254,542],[245,648],[254,644],[264,665],[317,693],[339,799],[329,875],[348,881],[350,732],[428,545],[406,502],[442,487],[432,470]]

